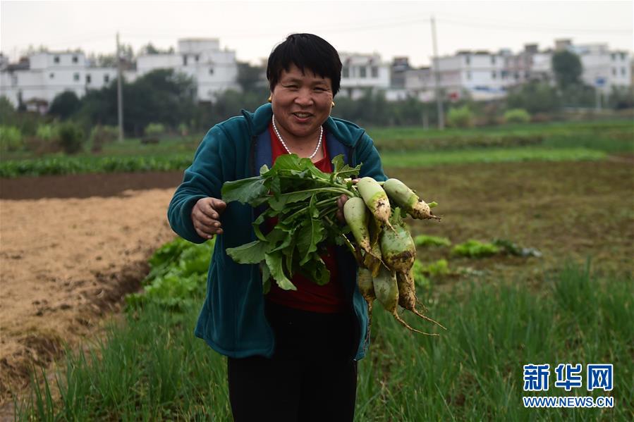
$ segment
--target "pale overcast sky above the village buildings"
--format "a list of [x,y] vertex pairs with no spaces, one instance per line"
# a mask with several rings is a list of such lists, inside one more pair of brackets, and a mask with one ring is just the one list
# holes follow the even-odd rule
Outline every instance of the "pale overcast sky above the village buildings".
[[135,51],[152,42],[214,37],[238,60],[258,63],[292,32],[312,32],[339,51],[432,56],[430,17],[439,54],[458,50],[517,52],[554,39],[633,50],[633,1],[0,1],[0,49],[16,60],[29,45],[111,53],[115,34]]

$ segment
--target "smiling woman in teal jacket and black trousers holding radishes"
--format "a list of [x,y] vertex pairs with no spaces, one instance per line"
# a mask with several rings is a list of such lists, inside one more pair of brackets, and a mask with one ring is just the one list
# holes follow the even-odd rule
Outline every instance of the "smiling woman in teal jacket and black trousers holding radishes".
[[[269,56],[267,79],[271,104],[209,130],[169,205],[169,222],[181,237],[201,243],[218,235],[195,335],[228,356],[236,421],[351,421],[357,361],[369,340],[353,256],[329,247],[322,256],[329,283],[318,286],[295,275],[298,290],[272,283],[264,295],[258,266],[226,254],[255,240],[257,211],[224,203],[220,192],[224,182],[257,175],[281,154],[307,157],[326,172],[343,154],[350,166],[362,164],[361,177],[385,175],[372,139],[357,125],[330,117],[341,80],[333,46],[316,35],[290,35]],[[345,200],[339,200],[340,218]]]

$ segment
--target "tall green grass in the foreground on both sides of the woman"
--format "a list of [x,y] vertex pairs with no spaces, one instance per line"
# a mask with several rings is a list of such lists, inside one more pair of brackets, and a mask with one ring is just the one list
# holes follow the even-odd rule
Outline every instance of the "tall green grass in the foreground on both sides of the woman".
[[[356,420],[626,421],[634,410],[632,282],[571,265],[544,274],[539,290],[472,278],[419,291],[449,328],[441,337],[412,335],[375,306]],[[229,420],[226,361],[193,337],[197,312],[148,304],[130,314],[95,352],[68,354],[57,376],[61,401],[48,384],[35,388],[18,420]],[[522,366],[560,362],[614,364],[614,409],[524,409]],[[548,394],[567,395],[552,385]]]

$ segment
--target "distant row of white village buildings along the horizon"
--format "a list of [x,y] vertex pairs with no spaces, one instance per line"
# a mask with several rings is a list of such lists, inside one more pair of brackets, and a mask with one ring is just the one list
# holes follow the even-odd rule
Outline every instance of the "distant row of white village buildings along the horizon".
[[[384,61],[379,54],[340,52],[343,70],[339,95],[352,99],[367,89],[384,92],[387,101],[415,97],[433,101],[436,84],[446,98],[470,97],[475,101],[500,99],[508,89],[530,80],[554,84],[551,57],[556,51],[578,54],[583,65],[582,80],[604,94],[634,85],[629,51],[609,49],[607,44],[573,44],[558,39],[552,48],[540,50],[526,44],[523,51],[458,51],[452,56],[435,58],[432,66],[413,68],[408,57]],[[240,90],[236,51],[221,49],[219,39],[179,39],[176,51],[140,54],[126,63],[123,77],[133,82],[157,69],[173,69],[192,77],[197,86],[197,101],[211,101],[226,89]],[[99,67],[81,52],[33,53],[9,63],[0,53],[0,95],[14,106],[47,111],[49,104],[64,91],[83,97],[89,89],[101,89],[116,79],[117,68]],[[436,80],[438,79],[438,81]],[[264,73],[262,82],[264,85]]]

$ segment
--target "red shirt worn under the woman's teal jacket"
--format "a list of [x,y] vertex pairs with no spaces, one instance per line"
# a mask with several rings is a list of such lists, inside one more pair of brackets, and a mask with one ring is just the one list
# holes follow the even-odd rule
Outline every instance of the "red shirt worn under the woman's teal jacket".
[[[279,141],[273,125],[269,124],[269,134],[271,135],[272,160],[281,155],[288,154],[284,145]],[[324,158],[315,163],[315,167],[324,173],[332,172],[332,163],[326,148],[326,132],[322,137],[322,148]],[[276,218],[269,219],[268,223],[274,225]],[[283,290],[274,280],[271,283],[271,290],[267,294],[267,300],[289,308],[303,309],[304,311],[334,313],[345,311],[346,304],[343,299],[343,286],[339,280],[336,260],[334,258],[334,247],[328,247],[328,254],[322,255],[326,268],[330,271],[330,281],[325,285],[317,285],[300,274],[295,274],[291,282],[297,290]]]

